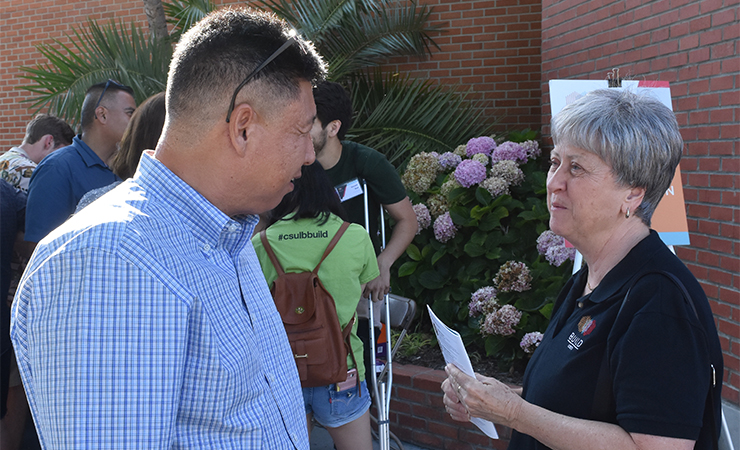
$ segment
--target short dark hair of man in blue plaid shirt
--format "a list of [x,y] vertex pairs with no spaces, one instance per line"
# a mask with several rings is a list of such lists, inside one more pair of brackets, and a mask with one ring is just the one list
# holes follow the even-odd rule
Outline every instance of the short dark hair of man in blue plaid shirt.
[[[167,85],[168,114],[195,114],[214,99],[223,99],[225,118],[236,87],[291,33],[284,21],[270,13],[245,8],[212,12],[188,30],[177,45]],[[325,72],[313,45],[296,37],[295,43],[267,64],[242,92],[260,80],[266,83],[267,95],[292,99],[299,95],[301,81],[315,83]]]

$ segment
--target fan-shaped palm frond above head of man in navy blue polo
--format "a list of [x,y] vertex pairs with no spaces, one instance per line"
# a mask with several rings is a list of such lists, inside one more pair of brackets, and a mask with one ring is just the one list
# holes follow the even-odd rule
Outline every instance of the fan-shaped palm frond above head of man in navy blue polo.
[[89,21],[87,28],[73,28],[71,45],[59,40],[41,44],[38,51],[47,59],[35,67],[21,67],[21,78],[30,84],[20,89],[30,91],[27,102],[36,112],[49,112],[70,124],[79,123],[85,91],[109,78],[131,86],[137,102],[163,91],[172,49],[167,42],[154,42],[131,23],[100,26]]

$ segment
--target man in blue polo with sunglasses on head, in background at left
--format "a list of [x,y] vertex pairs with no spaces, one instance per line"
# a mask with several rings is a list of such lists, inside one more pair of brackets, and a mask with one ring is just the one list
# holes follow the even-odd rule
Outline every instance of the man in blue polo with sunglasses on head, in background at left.
[[36,167],[28,189],[26,241],[38,242],[74,213],[88,191],[119,181],[108,167],[136,109],[134,91],[117,81],[90,86],[72,145]]

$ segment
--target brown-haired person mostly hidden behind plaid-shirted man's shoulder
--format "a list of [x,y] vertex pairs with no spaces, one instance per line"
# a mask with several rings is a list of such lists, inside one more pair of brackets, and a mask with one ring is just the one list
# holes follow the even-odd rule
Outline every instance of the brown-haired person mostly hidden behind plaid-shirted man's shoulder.
[[[118,151],[113,155],[110,168],[121,180],[127,180],[136,172],[141,154],[144,150],[152,150],[157,146],[162,134],[165,118],[164,92],[154,94],[136,108],[131,116],[126,131],[123,132]],[[106,192],[118,186],[121,182],[115,181],[108,186],[93,189],[83,195],[77,204],[75,213],[100,198]]]

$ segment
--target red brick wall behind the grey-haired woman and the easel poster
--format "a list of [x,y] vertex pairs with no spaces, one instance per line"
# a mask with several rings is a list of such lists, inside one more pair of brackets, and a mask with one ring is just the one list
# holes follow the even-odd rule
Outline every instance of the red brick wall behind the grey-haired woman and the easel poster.
[[676,249],[710,299],[725,356],[724,398],[740,404],[740,57],[738,0],[544,0],[548,80],[621,75],[669,81],[683,138],[691,245]]

